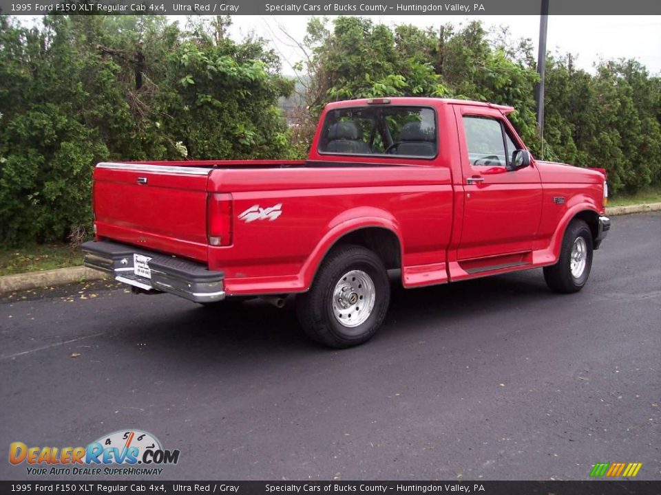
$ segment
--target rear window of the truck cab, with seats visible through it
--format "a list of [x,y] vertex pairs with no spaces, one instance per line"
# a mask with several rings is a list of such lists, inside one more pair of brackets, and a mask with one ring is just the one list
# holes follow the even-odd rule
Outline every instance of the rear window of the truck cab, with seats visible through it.
[[428,107],[374,106],[326,113],[318,151],[333,155],[434,158],[436,113]]

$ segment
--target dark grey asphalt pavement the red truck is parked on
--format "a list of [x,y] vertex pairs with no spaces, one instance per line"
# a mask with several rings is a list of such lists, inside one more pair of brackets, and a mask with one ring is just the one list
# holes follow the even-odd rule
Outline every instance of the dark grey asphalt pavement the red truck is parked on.
[[[11,294],[0,373],[0,449],[139,428],[181,452],[163,479],[660,479],[661,214],[614,218],[578,294],[541,270],[395,288],[346,351],[300,337],[291,304]],[[6,455],[0,478],[30,478]]]

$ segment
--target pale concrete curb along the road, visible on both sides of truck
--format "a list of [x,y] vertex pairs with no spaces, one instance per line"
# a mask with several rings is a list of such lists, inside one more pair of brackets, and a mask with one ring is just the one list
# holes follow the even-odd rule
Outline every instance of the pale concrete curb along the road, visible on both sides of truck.
[[[610,206],[606,208],[607,215],[621,215],[661,210],[661,203],[649,203],[631,206]],[[94,281],[109,276],[98,270],[86,267],[59,268],[44,272],[0,276],[0,294],[38,287],[50,287],[67,283]]]

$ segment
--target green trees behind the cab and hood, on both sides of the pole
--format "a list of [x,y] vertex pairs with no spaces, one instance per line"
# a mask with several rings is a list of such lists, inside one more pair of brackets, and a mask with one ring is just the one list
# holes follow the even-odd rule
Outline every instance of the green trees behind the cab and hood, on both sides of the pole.
[[661,79],[636,61],[602,62],[589,74],[572,67],[569,55],[549,57],[542,136],[532,43],[512,41],[507,29],[490,35],[479,22],[423,30],[315,18],[306,52],[311,112],[297,136],[304,143],[333,100],[452,96],[511,105],[510,120],[536,156],[606,168],[612,192],[661,184]]

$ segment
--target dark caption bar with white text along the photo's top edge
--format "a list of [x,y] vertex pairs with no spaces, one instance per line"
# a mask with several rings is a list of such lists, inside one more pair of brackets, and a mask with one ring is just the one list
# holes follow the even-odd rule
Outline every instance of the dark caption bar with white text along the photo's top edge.
[[[541,0],[0,0],[2,15],[521,15],[539,14]],[[549,14],[661,14],[661,2],[649,0],[549,0]],[[589,22],[589,19],[585,20]],[[657,36],[650,32],[651,36]]]

